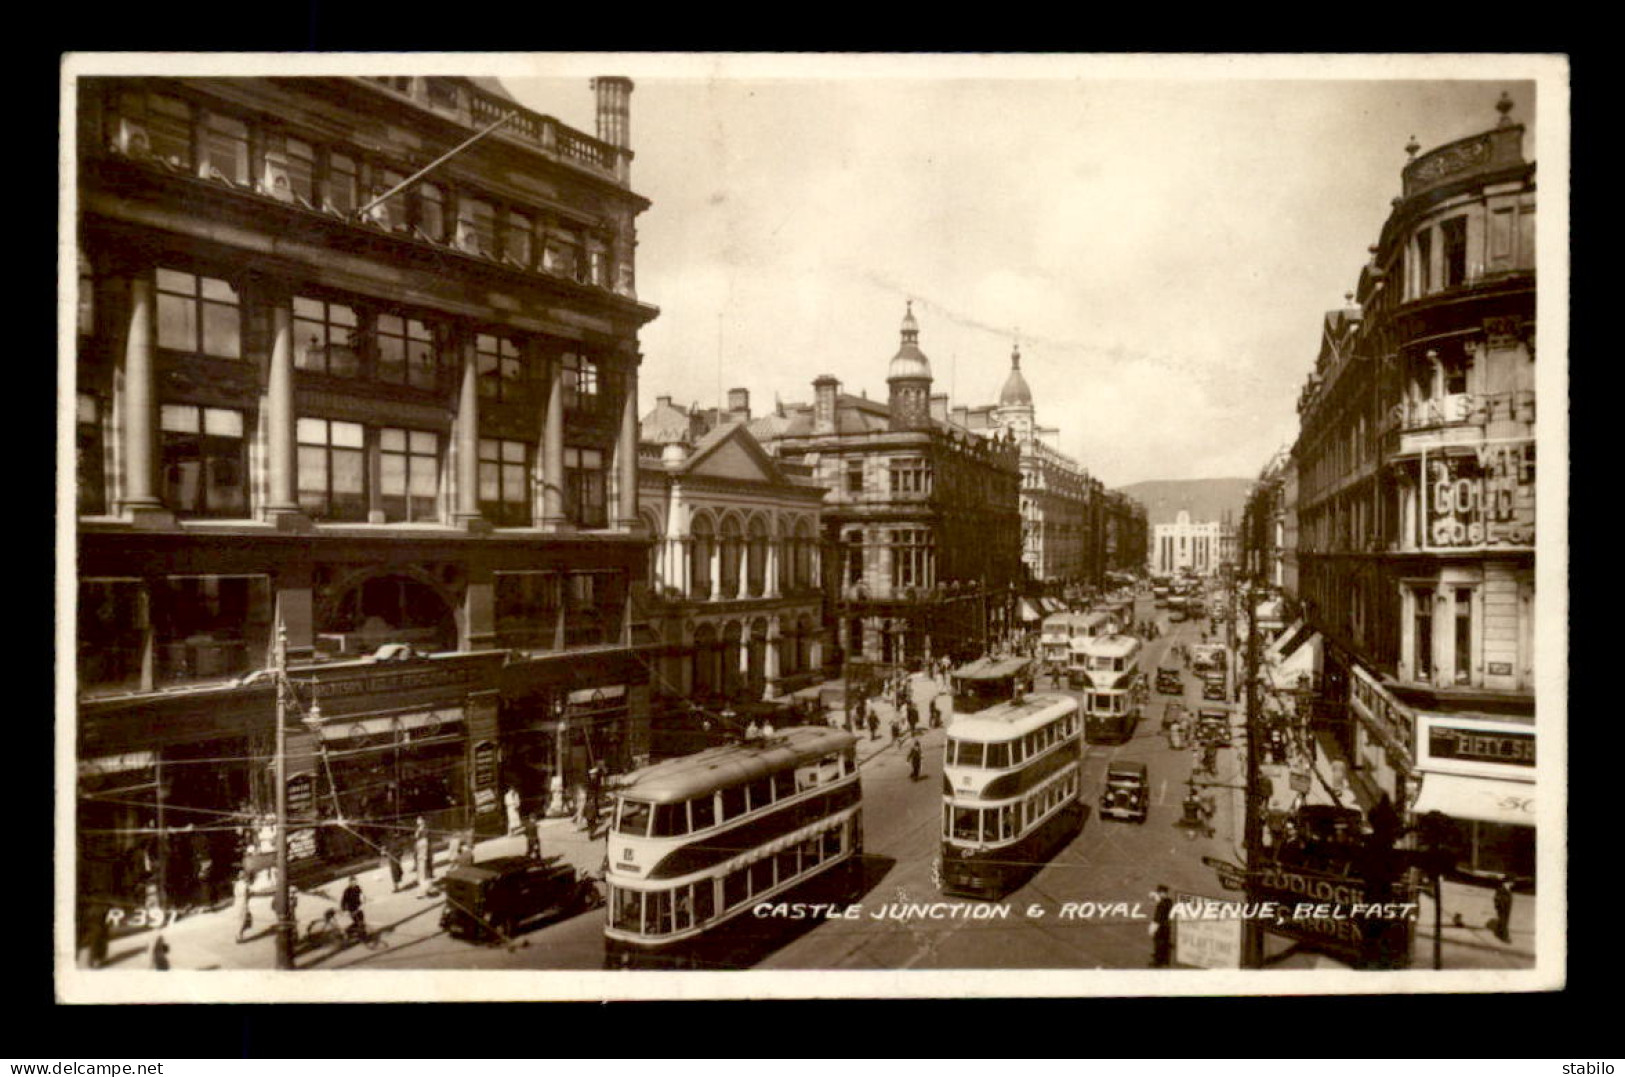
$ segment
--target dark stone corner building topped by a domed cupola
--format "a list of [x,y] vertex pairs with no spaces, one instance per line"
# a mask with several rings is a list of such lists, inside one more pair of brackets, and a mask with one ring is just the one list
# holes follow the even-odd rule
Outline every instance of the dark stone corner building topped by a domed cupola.
[[913,310],[889,365],[887,403],[834,377],[814,403],[752,432],[827,491],[824,585],[848,663],[968,658],[1014,627],[1020,582],[1020,452],[934,416]]

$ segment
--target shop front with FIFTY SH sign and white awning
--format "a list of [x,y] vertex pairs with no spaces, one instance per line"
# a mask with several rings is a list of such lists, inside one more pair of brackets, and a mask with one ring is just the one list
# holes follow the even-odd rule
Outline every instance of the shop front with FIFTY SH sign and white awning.
[[1532,718],[1417,713],[1422,789],[1412,811],[1454,824],[1461,876],[1536,874]]

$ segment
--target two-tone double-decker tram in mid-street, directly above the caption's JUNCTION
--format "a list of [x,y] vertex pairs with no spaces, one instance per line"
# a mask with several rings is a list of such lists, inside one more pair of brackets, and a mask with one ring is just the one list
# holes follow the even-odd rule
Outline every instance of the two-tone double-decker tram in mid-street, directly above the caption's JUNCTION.
[[1084,822],[1077,700],[1037,694],[956,718],[942,765],[941,889],[996,898]]

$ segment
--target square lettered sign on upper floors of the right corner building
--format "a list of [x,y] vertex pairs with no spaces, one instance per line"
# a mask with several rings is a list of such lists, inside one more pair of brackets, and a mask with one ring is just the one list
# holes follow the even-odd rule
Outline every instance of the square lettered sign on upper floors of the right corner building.
[[1422,450],[1424,549],[1534,549],[1534,440]]

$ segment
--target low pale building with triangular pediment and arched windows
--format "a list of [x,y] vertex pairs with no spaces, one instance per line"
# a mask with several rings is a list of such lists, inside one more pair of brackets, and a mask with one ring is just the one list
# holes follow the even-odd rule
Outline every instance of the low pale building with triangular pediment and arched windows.
[[749,396],[734,396],[738,416],[720,426],[670,396],[642,422],[639,510],[653,538],[650,611],[663,645],[656,712],[684,729],[692,723],[678,700],[715,712],[780,699],[812,684],[826,658],[824,487],[804,465],[762,450],[746,427]]

